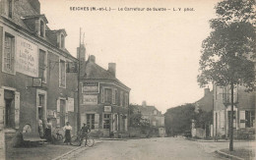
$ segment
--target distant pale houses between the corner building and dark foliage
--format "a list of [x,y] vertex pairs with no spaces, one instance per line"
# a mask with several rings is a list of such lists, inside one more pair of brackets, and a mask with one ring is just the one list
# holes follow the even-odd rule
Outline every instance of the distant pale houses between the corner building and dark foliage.
[[149,124],[159,129],[159,135],[165,136],[164,128],[164,116],[155,106],[147,105],[146,101],[143,101],[142,105],[131,105],[134,108],[133,112],[142,114],[142,119],[149,122]]

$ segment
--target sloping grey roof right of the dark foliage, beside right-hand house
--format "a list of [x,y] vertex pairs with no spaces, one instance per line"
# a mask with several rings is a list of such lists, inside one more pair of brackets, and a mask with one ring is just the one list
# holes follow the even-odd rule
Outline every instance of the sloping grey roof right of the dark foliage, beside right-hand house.
[[199,99],[196,104],[197,107],[202,109],[203,111],[207,111],[210,112],[213,110],[213,96],[214,96],[214,91],[210,91],[208,93],[206,93],[206,95],[204,97],[202,97],[201,99]]

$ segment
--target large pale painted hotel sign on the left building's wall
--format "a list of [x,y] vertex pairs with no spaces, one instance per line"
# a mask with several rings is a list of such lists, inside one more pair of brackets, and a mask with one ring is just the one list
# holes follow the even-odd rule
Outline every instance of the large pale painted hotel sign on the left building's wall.
[[37,78],[37,46],[20,36],[17,36],[16,45],[16,71]]

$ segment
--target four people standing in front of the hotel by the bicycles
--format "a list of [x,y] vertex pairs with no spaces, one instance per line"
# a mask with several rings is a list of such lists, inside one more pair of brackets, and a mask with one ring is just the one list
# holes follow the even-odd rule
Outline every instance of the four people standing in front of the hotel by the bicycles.
[[[45,133],[44,133],[43,132],[42,121],[41,121],[41,119],[38,120],[38,133],[39,133],[40,137],[44,136],[48,141],[52,141],[51,129],[52,129],[52,124],[50,123],[50,120],[48,119],[47,123],[45,125]],[[66,123],[66,125],[63,128],[63,131],[65,133],[64,143],[70,144],[72,127],[70,126],[69,122]],[[80,137],[82,139],[84,139],[84,137],[86,137],[87,133],[90,133],[90,132],[91,132],[90,128],[87,126],[86,123],[84,123],[84,126],[80,130]]]

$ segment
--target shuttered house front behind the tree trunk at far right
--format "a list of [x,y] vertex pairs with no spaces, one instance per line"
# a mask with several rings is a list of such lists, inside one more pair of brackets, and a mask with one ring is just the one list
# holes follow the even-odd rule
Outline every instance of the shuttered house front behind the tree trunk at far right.
[[[234,88],[233,136],[255,138],[256,93]],[[214,136],[228,137],[231,113],[230,88],[214,85]]]

